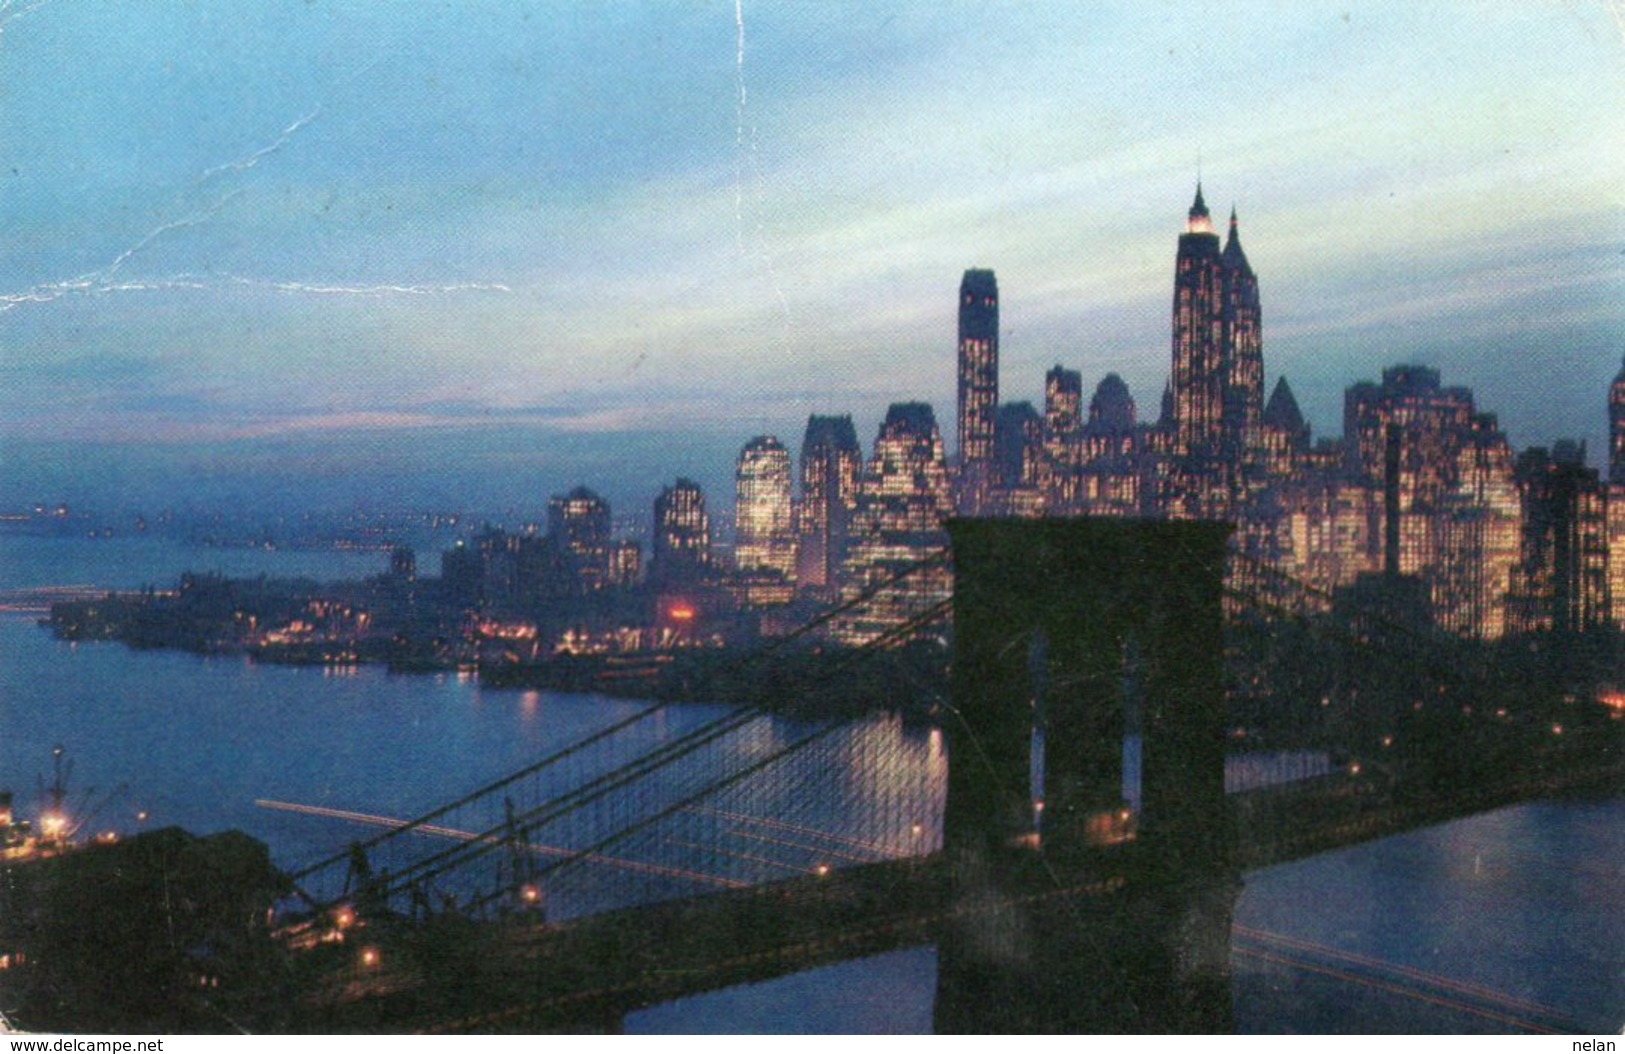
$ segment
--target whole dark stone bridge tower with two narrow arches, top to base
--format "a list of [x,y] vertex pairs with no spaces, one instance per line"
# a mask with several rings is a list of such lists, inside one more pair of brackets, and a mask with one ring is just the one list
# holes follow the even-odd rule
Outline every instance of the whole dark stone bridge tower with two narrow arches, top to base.
[[1230,525],[947,529],[942,835],[970,909],[939,940],[938,1030],[1227,1031],[1240,890],[1224,794]]

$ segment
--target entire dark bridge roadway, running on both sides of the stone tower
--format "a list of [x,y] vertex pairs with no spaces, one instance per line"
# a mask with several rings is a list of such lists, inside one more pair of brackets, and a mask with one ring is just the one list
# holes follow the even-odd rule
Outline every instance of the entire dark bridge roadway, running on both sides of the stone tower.
[[[1622,771],[1617,760],[1578,765],[1425,799],[1346,775],[1232,794],[1235,866],[1256,870],[1580,786],[1618,786]],[[972,916],[1050,911],[1113,934],[1165,911],[1178,885],[1133,843],[1060,869],[1032,859],[1017,893],[1009,883],[965,893],[975,882],[938,853],[556,924],[525,913],[372,919],[299,968],[315,1025],[333,1031],[614,1031],[640,1007],[933,944]],[[375,952],[370,965],[358,947]]]

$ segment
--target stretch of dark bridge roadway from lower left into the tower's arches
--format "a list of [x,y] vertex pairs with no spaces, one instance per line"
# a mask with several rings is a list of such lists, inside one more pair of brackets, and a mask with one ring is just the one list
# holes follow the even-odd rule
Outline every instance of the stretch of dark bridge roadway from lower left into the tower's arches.
[[[956,900],[942,854],[726,890],[559,924],[374,922],[314,992],[317,1023],[338,1031],[618,1030],[639,1007],[767,981],[936,940],[954,916],[1020,903],[1110,903],[1126,882],[1100,874],[1022,898]],[[447,953],[442,942],[455,942]],[[354,945],[377,950],[361,966]]]

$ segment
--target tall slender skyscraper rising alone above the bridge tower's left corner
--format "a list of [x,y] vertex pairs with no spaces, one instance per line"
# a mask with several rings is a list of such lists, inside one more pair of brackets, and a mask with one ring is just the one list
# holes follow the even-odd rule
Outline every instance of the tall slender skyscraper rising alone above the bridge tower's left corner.
[[977,512],[988,497],[998,404],[999,286],[993,271],[970,270],[959,283],[959,468],[965,512]]

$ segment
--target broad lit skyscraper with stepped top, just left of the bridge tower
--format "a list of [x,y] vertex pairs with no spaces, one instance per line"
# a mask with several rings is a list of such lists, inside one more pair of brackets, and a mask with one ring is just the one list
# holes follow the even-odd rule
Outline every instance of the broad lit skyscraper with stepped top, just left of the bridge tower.
[[[952,575],[941,560],[947,547],[942,520],[949,515],[947,463],[936,416],[926,403],[894,403],[858,486],[842,588],[842,598],[855,601],[855,607],[837,619],[838,640],[871,643],[952,596]],[[915,570],[923,564],[930,567]],[[941,632],[933,622],[905,638],[933,638]]]

